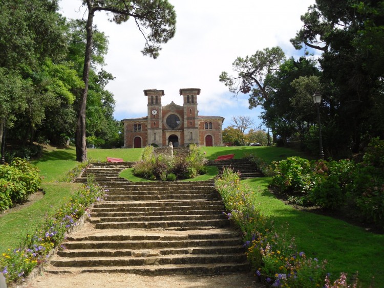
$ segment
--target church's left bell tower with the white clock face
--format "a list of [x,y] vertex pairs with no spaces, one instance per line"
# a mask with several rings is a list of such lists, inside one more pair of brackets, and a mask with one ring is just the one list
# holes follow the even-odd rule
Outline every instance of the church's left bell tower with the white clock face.
[[148,98],[148,144],[157,144],[162,146],[162,111],[161,97],[164,96],[164,90],[148,89],[144,90],[144,95]]

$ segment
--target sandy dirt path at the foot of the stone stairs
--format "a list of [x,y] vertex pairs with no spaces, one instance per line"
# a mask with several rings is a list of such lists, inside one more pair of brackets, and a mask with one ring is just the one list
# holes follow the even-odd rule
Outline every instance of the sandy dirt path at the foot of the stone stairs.
[[167,275],[140,276],[134,274],[44,274],[30,283],[28,288],[48,287],[264,287],[250,273],[224,274],[214,276]]

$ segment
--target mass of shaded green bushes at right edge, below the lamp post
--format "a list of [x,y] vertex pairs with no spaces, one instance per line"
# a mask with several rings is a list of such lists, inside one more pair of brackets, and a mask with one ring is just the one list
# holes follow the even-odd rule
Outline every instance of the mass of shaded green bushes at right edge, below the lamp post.
[[309,162],[298,157],[273,162],[270,185],[298,205],[348,208],[361,219],[384,229],[384,141],[373,139],[362,163]]

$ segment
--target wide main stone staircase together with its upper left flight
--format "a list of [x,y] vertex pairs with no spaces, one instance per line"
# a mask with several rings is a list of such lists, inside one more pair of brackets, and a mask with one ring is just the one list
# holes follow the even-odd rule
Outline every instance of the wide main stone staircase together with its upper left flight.
[[100,172],[96,179],[108,196],[67,237],[66,249],[51,258],[46,272],[153,276],[249,270],[242,238],[223,215],[213,181],[134,183],[116,179],[123,164],[101,166],[83,175]]

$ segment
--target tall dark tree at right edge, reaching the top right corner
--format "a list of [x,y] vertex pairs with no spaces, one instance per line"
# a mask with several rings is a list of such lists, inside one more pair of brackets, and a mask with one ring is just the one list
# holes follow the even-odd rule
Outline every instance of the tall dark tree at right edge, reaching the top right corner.
[[332,127],[325,140],[328,134],[331,154],[349,157],[371,137],[384,138],[383,2],[316,0],[301,19],[294,47],[323,52],[322,94],[329,107],[324,127]]

